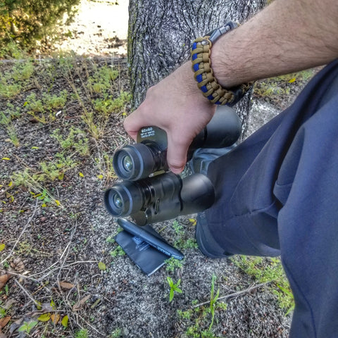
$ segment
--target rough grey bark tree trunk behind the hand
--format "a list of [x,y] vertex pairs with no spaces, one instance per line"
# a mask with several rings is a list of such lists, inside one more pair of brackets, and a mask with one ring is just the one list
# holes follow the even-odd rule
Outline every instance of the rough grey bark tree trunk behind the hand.
[[[196,37],[227,21],[242,23],[265,3],[266,0],[130,0],[128,62],[134,108],[144,100],[146,89],[187,61]],[[242,118],[243,131],[250,96],[246,94],[235,107]]]

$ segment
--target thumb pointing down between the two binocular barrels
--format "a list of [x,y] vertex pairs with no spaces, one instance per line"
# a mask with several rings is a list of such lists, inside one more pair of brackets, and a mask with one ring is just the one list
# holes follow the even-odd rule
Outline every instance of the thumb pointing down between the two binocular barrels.
[[188,139],[178,141],[171,136],[168,137],[167,161],[174,174],[182,173],[184,165],[187,163],[187,151],[191,142]]

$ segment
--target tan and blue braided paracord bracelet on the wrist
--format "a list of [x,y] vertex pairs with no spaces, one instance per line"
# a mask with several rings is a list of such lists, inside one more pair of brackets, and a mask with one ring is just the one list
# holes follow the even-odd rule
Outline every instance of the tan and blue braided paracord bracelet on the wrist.
[[211,68],[211,47],[218,37],[237,27],[236,23],[226,23],[224,26],[213,30],[205,37],[197,38],[192,44],[192,70],[197,86],[203,95],[213,104],[233,106],[242,99],[251,88],[252,82],[239,84],[230,89],[223,88],[213,76]]

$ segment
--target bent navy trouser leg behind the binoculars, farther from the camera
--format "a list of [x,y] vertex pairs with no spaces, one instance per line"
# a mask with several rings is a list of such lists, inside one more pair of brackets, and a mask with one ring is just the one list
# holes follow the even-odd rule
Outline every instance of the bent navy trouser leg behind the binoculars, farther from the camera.
[[282,201],[273,187],[297,132],[318,111],[337,73],[338,61],[322,70],[290,108],[209,165],[216,202],[206,211],[205,230],[227,253],[280,255],[277,216]]

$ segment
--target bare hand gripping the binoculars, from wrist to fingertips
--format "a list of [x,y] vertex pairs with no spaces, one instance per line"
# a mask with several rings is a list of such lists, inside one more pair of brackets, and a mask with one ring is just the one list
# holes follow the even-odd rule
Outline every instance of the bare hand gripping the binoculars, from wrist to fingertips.
[[169,168],[173,173],[181,173],[189,145],[214,113],[215,105],[201,94],[188,62],[149,88],[146,99],[125,119],[124,126],[135,140],[142,127],[155,125],[165,130]]

